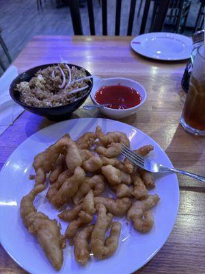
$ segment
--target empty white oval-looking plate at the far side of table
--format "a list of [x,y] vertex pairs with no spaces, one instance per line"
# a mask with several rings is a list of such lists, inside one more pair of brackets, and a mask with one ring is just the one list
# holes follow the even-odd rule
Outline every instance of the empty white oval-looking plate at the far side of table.
[[169,32],[141,34],[133,38],[131,47],[143,56],[164,61],[188,59],[193,49],[191,38]]

